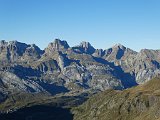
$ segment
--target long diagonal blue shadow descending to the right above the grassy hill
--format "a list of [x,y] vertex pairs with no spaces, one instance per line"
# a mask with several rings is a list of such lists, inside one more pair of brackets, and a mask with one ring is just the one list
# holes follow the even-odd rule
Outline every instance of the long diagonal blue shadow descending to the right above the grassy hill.
[[99,63],[105,64],[105,65],[109,65],[111,68],[113,68],[115,70],[115,73],[113,73],[118,79],[121,80],[122,85],[124,86],[124,88],[130,88],[133,86],[138,85],[136,80],[135,80],[135,76],[131,75],[130,73],[125,73],[121,66],[115,66],[114,63],[108,62],[102,58],[97,58],[97,57],[93,57],[94,60],[96,60]]

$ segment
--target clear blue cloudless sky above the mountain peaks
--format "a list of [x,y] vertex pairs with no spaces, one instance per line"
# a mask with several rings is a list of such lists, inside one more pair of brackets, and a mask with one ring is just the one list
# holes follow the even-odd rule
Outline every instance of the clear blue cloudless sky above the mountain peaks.
[[160,49],[160,0],[0,0],[0,39]]

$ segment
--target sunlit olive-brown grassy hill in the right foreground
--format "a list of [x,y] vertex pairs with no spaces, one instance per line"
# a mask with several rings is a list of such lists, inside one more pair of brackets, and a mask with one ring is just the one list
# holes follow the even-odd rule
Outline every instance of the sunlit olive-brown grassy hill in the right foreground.
[[158,120],[160,78],[123,91],[106,90],[73,109],[74,120]]

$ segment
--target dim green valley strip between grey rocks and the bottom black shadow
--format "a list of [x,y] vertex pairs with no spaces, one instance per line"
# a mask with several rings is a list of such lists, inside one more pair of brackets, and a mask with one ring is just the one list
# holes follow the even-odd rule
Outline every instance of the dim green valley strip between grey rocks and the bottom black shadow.
[[32,107],[35,105],[52,106],[71,108],[82,104],[88,95],[79,93],[74,94],[57,94],[55,96],[47,95],[46,93],[15,93],[8,96],[8,98],[1,102],[0,112],[13,112],[21,108]]

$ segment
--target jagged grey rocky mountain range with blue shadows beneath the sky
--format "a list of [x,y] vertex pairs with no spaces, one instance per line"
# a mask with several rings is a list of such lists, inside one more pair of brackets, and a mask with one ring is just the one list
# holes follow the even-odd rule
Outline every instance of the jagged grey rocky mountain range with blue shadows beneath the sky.
[[120,44],[102,50],[88,42],[70,47],[66,41],[55,39],[40,50],[36,45],[2,40],[0,91],[56,94],[88,89],[124,89],[158,75],[159,56],[158,50],[145,49],[137,53]]

